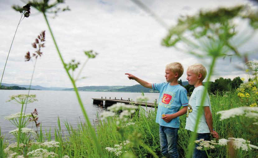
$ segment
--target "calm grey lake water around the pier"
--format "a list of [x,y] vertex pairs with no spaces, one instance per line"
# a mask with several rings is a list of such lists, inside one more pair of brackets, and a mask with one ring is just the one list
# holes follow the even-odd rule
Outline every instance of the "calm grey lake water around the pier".
[[[21,112],[21,105],[6,103],[10,95],[27,94],[27,90],[0,90],[0,126],[2,134],[8,134],[9,131],[16,129],[9,121],[4,120],[5,116]],[[91,122],[96,119],[96,113],[103,112],[103,108],[93,105],[91,98],[105,98],[125,100],[128,98],[135,100],[141,96],[141,93],[124,93],[124,92],[79,92],[82,103],[86,109],[87,115]],[[81,108],[78,104],[74,91],[52,91],[52,90],[31,90],[30,94],[36,94],[37,102],[27,104],[26,113],[38,110],[39,122],[42,124],[42,129],[51,127],[54,132],[54,127],[57,126],[57,117],[59,116],[61,128],[65,129],[64,121],[68,121],[71,125],[77,125],[77,121],[83,118]],[[153,100],[158,99],[159,93],[145,93],[149,98],[148,102],[153,103]]]

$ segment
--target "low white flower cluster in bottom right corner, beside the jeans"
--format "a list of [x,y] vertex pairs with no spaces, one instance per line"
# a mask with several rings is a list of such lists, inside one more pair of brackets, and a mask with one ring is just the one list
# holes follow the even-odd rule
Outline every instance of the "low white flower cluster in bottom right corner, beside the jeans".
[[214,149],[214,145],[219,146],[225,146],[228,144],[228,142],[231,142],[233,144],[234,149],[242,149],[244,151],[251,150],[252,148],[258,149],[257,146],[250,144],[251,142],[249,140],[245,140],[243,138],[228,138],[228,139],[219,139],[218,143],[216,141],[207,141],[204,139],[196,140],[195,143],[199,145],[199,147],[196,147],[198,150],[207,150],[207,149]]

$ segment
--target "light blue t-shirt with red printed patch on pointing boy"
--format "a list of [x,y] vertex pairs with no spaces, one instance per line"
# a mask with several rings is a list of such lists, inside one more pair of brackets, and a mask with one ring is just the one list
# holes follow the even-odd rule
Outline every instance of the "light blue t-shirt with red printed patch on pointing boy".
[[153,83],[153,90],[160,91],[156,122],[166,127],[179,128],[179,117],[165,122],[162,114],[173,114],[180,110],[181,106],[188,105],[187,90],[181,85],[171,86],[169,83]]

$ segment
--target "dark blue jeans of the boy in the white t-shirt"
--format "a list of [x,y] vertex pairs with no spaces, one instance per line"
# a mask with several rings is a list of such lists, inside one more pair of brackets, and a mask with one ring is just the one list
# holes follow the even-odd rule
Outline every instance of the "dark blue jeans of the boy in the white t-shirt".
[[[196,140],[204,139],[210,141],[210,133],[197,133]],[[205,150],[198,150],[196,147],[199,145],[195,143],[194,155],[193,158],[208,158]],[[208,152],[209,153],[209,152]]]

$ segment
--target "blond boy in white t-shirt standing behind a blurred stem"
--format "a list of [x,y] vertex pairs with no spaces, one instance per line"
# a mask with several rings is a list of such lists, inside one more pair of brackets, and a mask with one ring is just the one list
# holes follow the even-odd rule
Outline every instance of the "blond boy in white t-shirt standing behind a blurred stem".
[[[191,65],[187,69],[187,80],[190,85],[194,85],[195,89],[192,92],[187,114],[186,114],[186,124],[185,129],[188,129],[192,132],[194,132],[195,124],[196,124],[196,118],[198,113],[198,108],[201,106],[201,99],[203,95],[203,91],[205,90],[204,86],[202,85],[202,82],[204,78],[206,77],[207,71],[206,68],[202,64],[194,64]],[[197,129],[197,138],[204,139],[204,140],[210,140],[210,134],[213,138],[219,138],[218,133],[213,130],[212,126],[212,113],[211,113],[211,104],[209,99],[209,94],[206,91],[205,92],[205,100],[203,105],[203,114],[201,116],[201,119],[199,121],[198,129]],[[196,147],[198,145],[196,144]],[[208,157],[205,151],[194,150],[193,158],[205,158]]]

